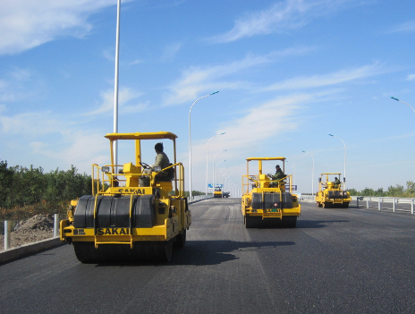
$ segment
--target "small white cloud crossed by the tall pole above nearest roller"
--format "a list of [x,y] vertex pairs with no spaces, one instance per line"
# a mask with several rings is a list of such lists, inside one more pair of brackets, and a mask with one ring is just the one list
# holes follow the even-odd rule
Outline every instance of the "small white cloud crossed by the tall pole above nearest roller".
[[[121,88],[118,91],[118,109],[121,113],[140,112],[144,110],[148,103],[127,105],[131,100],[139,98],[142,95],[130,88]],[[114,112],[114,89],[108,89],[102,92],[100,97],[103,99],[101,106],[94,111],[86,113],[85,115],[100,115]]]

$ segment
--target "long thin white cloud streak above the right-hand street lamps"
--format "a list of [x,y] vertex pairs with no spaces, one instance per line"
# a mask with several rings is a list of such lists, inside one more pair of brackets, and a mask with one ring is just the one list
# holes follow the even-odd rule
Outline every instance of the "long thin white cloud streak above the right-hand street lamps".
[[342,70],[324,75],[313,75],[309,77],[299,77],[287,81],[279,81],[262,90],[282,90],[282,89],[311,89],[321,86],[335,84],[367,78],[385,72],[378,64],[369,64],[360,68]]

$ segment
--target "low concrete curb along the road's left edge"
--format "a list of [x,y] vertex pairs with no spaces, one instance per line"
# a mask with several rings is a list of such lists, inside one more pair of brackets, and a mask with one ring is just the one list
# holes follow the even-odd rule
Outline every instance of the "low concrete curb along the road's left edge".
[[14,259],[21,259],[31,254],[36,254],[42,250],[53,249],[64,244],[65,242],[61,242],[59,237],[54,237],[39,242],[21,245],[9,250],[2,250],[0,251],[0,265]]

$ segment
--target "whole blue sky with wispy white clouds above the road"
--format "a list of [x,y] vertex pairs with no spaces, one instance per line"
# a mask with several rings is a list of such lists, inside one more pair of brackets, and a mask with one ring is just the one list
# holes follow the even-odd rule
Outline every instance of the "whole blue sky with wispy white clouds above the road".
[[[109,163],[116,9],[116,0],[2,4],[8,165],[90,174]],[[208,182],[214,155],[233,185],[245,158],[286,157],[299,191],[316,191],[319,174],[343,173],[331,133],[346,144],[348,188],[405,186],[415,181],[415,114],[390,97],[415,106],[414,11],[385,0],[123,1],[118,131],[174,132],[188,172],[191,104],[219,90],[191,111],[193,190],[205,191],[207,141],[222,132],[209,142]],[[153,163],[154,150],[144,159]],[[119,163],[132,160],[120,147]]]

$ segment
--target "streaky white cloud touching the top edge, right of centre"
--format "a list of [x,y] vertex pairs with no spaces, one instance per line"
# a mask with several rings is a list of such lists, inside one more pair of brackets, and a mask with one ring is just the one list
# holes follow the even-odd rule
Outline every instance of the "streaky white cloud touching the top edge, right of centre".
[[234,21],[232,30],[208,40],[212,43],[231,42],[255,35],[283,32],[300,28],[312,19],[334,13],[343,4],[354,2],[344,0],[285,0],[277,2],[269,9],[249,13]]

